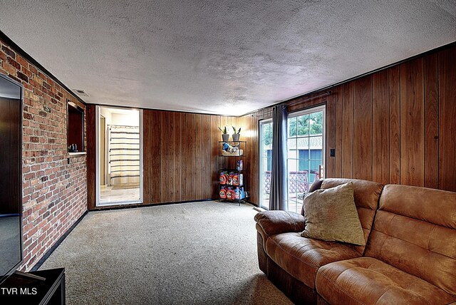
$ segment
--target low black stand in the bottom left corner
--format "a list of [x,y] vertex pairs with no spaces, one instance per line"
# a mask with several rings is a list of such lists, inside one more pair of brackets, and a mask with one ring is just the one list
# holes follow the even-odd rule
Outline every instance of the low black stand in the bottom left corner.
[[64,305],[65,269],[11,274],[0,285],[0,304]]

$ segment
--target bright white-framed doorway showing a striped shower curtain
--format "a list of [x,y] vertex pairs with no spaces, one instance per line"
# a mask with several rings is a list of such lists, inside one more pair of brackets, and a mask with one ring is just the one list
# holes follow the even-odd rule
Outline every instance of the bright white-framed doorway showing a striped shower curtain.
[[142,202],[142,112],[97,106],[97,206]]

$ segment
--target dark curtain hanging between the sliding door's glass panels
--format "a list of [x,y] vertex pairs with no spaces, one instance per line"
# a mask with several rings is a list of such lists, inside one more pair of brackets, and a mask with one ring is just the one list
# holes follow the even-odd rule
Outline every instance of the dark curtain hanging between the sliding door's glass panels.
[[276,105],[272,108],[272,171],[269,210],[288,210],[286,200],[288,192],[288,182],[286,181],[287,117],[288,112],[285,105]]

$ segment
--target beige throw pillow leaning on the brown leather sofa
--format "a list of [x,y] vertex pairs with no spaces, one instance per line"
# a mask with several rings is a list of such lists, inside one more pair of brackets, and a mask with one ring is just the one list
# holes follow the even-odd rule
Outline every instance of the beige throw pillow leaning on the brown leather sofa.
[[306,227],[302,237],[361,246],[366,244],[356,211],[352,182],[306,194],[304,216]]

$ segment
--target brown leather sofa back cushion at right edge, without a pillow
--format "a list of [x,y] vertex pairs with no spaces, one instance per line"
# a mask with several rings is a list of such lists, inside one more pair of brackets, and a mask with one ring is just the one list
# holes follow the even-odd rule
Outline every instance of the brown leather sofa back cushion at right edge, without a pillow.
[[386,185],[364,255],[456,295],[456,193]]

